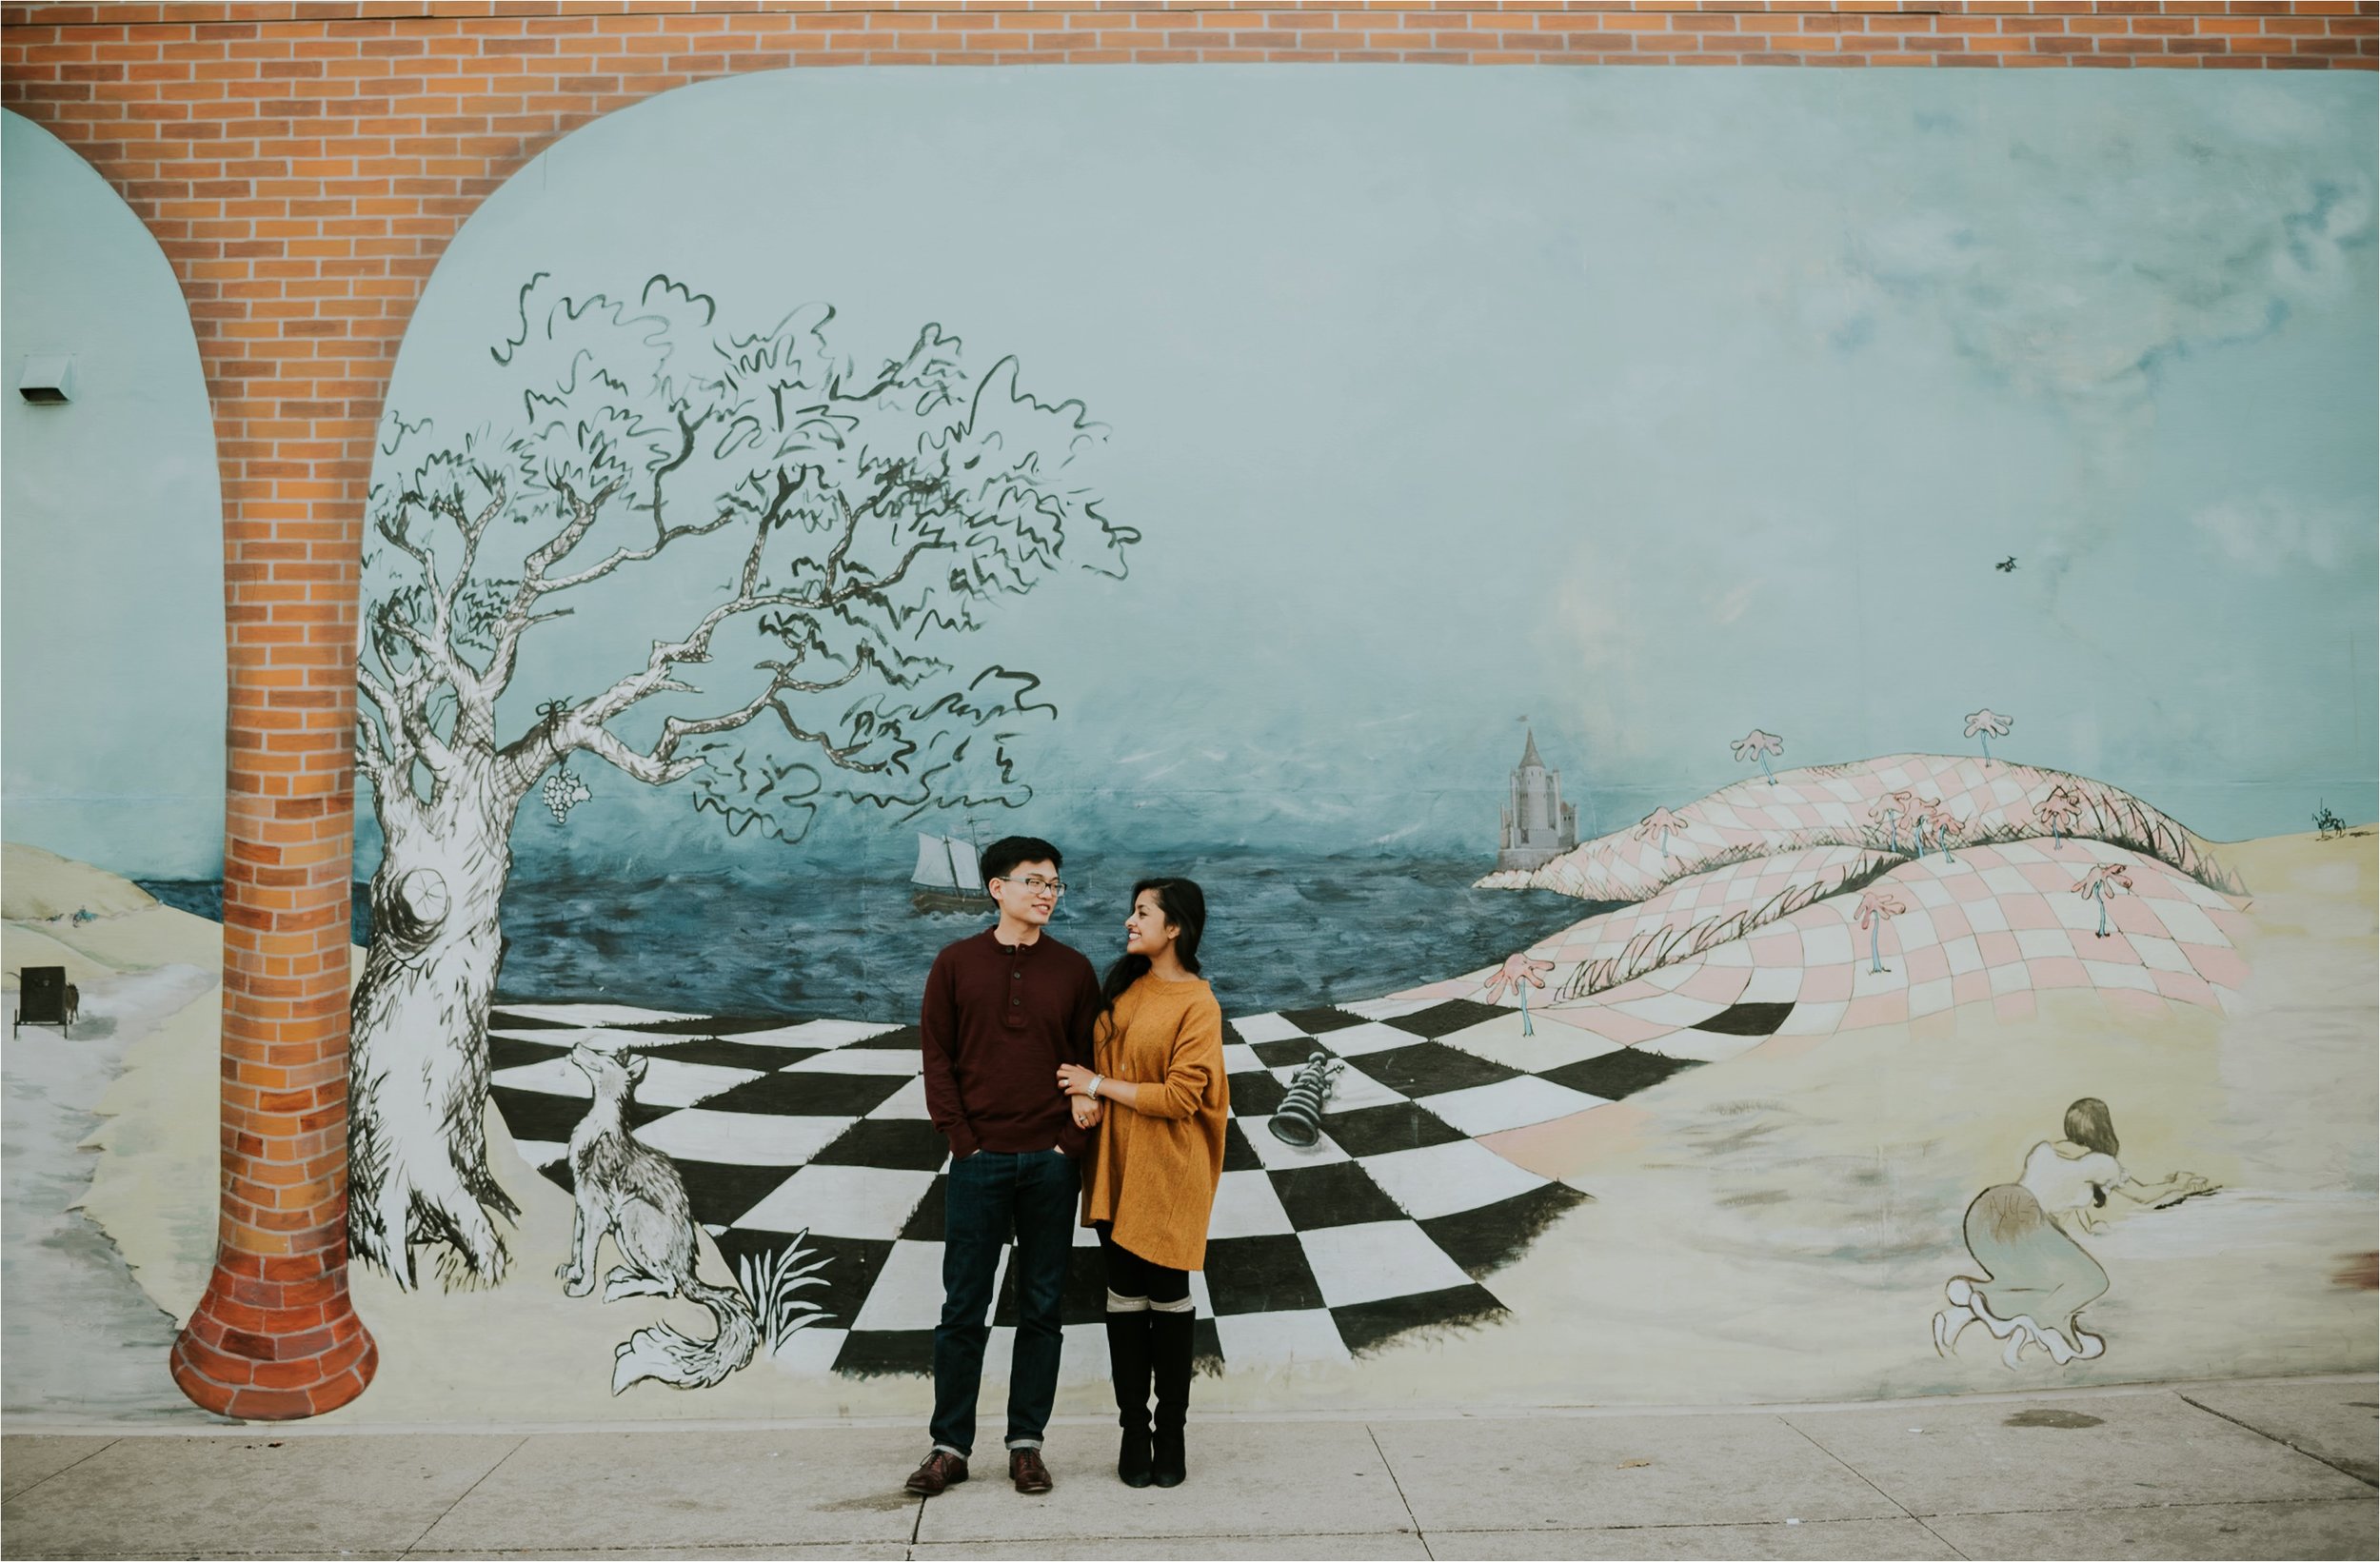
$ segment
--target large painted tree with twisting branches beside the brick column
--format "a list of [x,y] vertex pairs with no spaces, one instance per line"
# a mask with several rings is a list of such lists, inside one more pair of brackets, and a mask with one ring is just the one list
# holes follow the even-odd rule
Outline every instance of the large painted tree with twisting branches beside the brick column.
[[[1104,429],[1023,390],[1014,360],[971,371],[923,326],[862,367],[823,305],[757,333],[716,317],[666,276],[566,298],[540,274],[493,348],[514,429],[386,424],[357,667],[386,848],[352,1000],[347,1219],[355,1255],[405,1286],[416,1243],[450,1283],[505,1274],[486,1026],[514,812],[540,776],[588,755],[783,843],[835,802],[1019,805],[1012,741],[1054,710],[964,641],[1069,564],[1121,576],[1138,543],[1083,486]],[[571,614],[602,629],[557,657],[547,626]],[[524,669],[576,693],[516,688]],[[557,819],[571,781],[545,793]]]

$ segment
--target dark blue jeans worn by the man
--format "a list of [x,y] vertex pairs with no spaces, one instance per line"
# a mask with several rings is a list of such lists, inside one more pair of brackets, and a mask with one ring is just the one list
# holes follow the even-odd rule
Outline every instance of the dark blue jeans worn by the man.
[[942,1322],[933,1331],[933,1445],[976,1448],[992,1281],[1016,1233],[1016,1355],[1009,1360],[1009,1448],[1040,1448],[1064,1345],[1059,1295],[1073,1250],[1081,1172],[1061,1150],[976,1150],[950,1167],[942,1205]]

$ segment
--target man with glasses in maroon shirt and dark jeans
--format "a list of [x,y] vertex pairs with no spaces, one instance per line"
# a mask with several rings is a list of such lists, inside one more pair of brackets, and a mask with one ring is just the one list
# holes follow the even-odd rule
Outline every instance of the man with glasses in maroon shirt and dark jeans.
[[1042,1431],[1057,1400],[1059,1293],[1073,1252],[1085,1129],[1097,1102],[1073,1105],[1052,1083],[1061,1062],[1090,1062],[1100,979],[1078,950],[1042,929],[1066,886],[1059,850],[1009,836],[983,850],[1000,921],[945,948],[926,976],[919,1043],[926,1110],[950,1141],[942,1212],[942,1322],[933,1331],[933,1452],[909,1491],[935,1495],[966,1479],[976,1443],[985,1314],[1000,1250],[1016,1233],[1016,1352],[1009,1362],[1009,1481],[1050,1491]]

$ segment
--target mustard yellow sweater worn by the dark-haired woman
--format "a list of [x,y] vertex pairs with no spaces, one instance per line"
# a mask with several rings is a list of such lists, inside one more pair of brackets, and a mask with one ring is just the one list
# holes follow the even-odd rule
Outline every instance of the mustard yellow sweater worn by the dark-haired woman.
[[1166,1269],[1207,1267],[1207,1217],[1223,1181],[1223,1010],[1204,981],[1142,976],[1102,1014],[1092,1067],[1138,1086],[1140,1110],[1107,1102],[1083,1181],[1083,1224]]

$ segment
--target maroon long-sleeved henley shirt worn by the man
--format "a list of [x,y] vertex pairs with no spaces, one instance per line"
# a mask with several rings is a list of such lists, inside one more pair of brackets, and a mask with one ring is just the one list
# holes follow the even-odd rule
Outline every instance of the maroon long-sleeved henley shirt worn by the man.
[[1000,943],[992,929],[933,957],[919,1005],[926,1112],[954,1160],[1057,1145],[1081,1155],[1085,1133],[1057,1088],[1057,1067],[1090,1067],[1100,979],[1081,950],[1042,933]]

